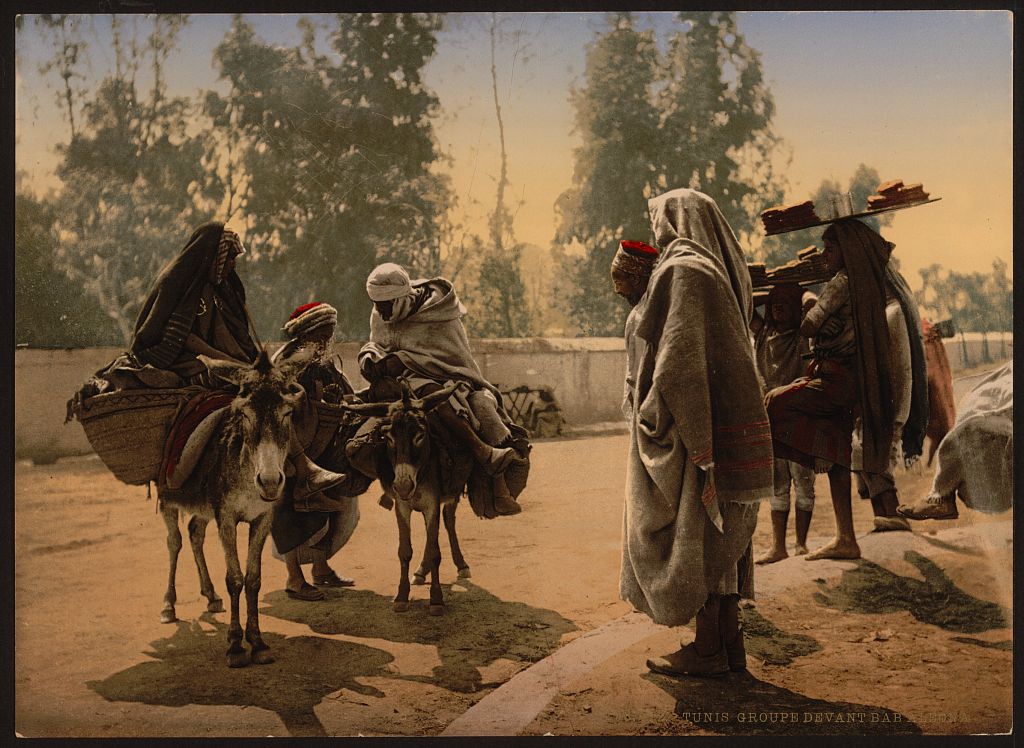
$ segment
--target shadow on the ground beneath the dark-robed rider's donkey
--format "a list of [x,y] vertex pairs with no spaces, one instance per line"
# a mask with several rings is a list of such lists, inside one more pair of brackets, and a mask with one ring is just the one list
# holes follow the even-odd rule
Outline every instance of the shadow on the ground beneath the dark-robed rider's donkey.
[[202,620],[213,630],[198,621],[178,621],[173,635],[151,642],[153,651],[145,654],[153,660],[86,684],[108,701],[267,709],[281,717],[290,735],[307,737],[327,735],[313,707],[328,695],[346,689],[365,697],[384,696],[356,678],[383,674],[394,659],[387,652],[319,636],[264,632],[275,661],[231,669],[225,657],[227,624],[210,614]]

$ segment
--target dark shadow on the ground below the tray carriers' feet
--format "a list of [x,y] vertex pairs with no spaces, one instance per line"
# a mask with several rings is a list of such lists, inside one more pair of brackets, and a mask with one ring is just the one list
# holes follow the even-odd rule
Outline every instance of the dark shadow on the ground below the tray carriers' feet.
[[968,594],[931,559],[913,550],[906,551],[903,558],[921,571],[925,581],[901,577],[861,559],[854,569],[843,572],[834,587],[819,581],[814,599],[852,613],[909,611],[923,623],[962,633],[1009,626],[1009,616],[1000,606]]

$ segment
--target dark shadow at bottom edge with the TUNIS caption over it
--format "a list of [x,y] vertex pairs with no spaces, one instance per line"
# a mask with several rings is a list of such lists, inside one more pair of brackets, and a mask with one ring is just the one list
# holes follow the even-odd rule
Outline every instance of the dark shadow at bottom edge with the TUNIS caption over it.
[[718,735],[888,736],[922,732],[890,709],[812,699],[745,671],[724,678],[673,678],[657,673],[641,677],[676,700],[676,716]]

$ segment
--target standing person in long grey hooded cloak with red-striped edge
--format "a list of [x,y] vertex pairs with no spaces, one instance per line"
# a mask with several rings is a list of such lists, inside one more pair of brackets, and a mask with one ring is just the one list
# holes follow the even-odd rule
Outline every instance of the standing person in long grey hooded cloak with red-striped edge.
[[715,202],[648,201],[660,256],[626,341],[630,450],[620,595],[696,638],[647,662],[671,675],[745,666],[739,568],[771,495],[772,453],[748,326],[750,274]]

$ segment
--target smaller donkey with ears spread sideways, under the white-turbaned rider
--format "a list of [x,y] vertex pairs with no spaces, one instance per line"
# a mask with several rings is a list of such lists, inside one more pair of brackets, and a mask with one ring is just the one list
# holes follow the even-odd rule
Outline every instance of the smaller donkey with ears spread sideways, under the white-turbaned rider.
[[441,560],[437,542],[441,514],[447,530],[452,559],[459,569],[460,579],[469,577],[469,565],[459,548],[459,538],[455,531],[455,510],[461,489],[454,494],[445,494],[439,452],[431,443],[429,424],[430,411],[446,401],[460,383],[447,386],[424,398],[413,397],[409,384],[401,382],[401,399],[390,403],[342,404],[345,410],[367,416],[381,418],[379,428],[384,438],[385,464],[380,465],[377,477],[386,496],[397,499],[394,505],[398,522],[398,560],[401,576],[398,579],[398,593],[394,598],[394,610],[403,613],[409,610],[409,564],[413,558],[411,521],[413,511],[423,514],[427,530],[423,550],[423,563],[417,571],[417,582],[422,583],[425,573],[430,573],[431,616],[444,613],[444,595],[441,592],[438,570]]

